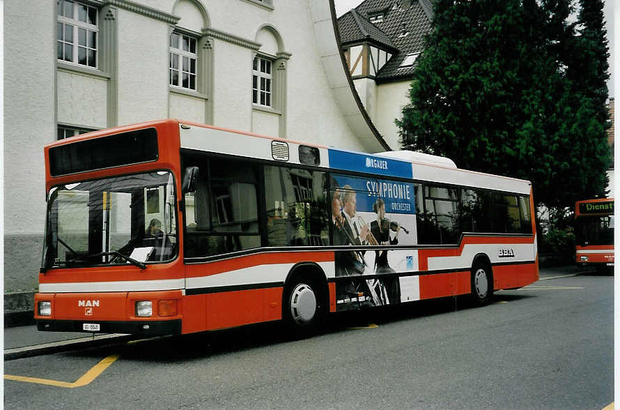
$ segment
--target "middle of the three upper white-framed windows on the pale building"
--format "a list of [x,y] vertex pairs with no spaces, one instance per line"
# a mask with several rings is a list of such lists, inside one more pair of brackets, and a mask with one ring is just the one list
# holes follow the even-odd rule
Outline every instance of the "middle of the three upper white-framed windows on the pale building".
[[196,43],[185,34],[170,35],[170,85],[196,91]]

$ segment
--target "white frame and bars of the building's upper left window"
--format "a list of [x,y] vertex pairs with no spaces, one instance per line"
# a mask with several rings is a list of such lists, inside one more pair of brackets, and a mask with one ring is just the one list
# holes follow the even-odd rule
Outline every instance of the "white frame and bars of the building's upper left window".
[[[65,5],[71,3],[71,16],[65,15]],[[86,22],[79,20],[79,7],[86,8]],[[95,24],[88,22],[88,16],[91,10],[95,16]],[[57,0],[56,1],[56,60],[63,63],[72,64],[75,66],[82,66],[99,69],[100,66],[100,28],[99,28],[100,16],[99,9],[91,6],[87,3],[81,3],[75,0]],[[65,40],[65,34],[67,34],[66,27],[70,26],[71,29],[71,41]],[[60,30],[59,30],[60,29]],[[85,44],[81,45],[79,36],[81,30],[86,31]],[[91,33],[94,33],[94,45],[91,44]],[[71,59],[68,60],[65,57],[66,47],[70,45],[72,47]],[[62,46],[62,56],[59,56],[59,46]],[[86,53],[86,63],[79,62],[80,49],[84,49]],[[89,51],[93,52],[94,65],[89,64]]]

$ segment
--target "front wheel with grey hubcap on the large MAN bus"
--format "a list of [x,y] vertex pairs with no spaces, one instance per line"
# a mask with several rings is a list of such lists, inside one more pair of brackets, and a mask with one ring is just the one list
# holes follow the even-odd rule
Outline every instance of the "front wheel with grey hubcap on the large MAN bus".
[[297,280],[286,286],[283,316],[286,327],[295,338],[308,337],[323,322],[324,303],[318,286],[307,280]]

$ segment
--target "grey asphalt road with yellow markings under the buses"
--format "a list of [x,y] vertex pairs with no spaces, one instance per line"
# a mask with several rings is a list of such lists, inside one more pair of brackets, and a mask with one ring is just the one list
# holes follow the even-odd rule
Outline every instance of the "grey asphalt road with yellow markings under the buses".
[[486,307],[449,298],[339,315],[307,340],[263,324],[11,360],[5,374],[38,380],[5,379],[4,405],[603,409],[613,302],[612,276],[580,275],[497,292]]

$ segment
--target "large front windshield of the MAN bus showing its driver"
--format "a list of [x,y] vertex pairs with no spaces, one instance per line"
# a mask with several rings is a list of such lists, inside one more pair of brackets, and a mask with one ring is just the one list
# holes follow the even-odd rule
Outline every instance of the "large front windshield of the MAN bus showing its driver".
[[170,261],[175,209],[168,171],[57,185],[47,201],[43,270]]

